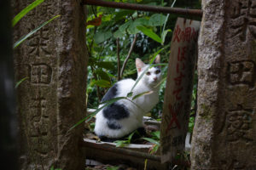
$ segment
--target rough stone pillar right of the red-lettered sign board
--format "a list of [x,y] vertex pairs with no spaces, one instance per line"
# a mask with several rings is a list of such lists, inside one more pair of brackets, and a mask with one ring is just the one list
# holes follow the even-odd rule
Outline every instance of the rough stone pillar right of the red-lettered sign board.
[[256,1],[202,7],[192,169],[255,169]]

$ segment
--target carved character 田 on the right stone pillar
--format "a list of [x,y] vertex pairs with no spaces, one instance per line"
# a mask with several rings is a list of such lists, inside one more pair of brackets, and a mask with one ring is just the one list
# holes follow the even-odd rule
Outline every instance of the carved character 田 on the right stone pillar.
[[228,81],[231,85],[245,84],[254,87],[255,63],[252,60],[230,62],[228,64]]

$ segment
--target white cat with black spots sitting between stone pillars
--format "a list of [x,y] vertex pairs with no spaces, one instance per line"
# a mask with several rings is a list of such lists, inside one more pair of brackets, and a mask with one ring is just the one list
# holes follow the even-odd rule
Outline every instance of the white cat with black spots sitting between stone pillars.
[[[154,63],[160,63],[160,55],[154,59]],[[148,68],[141,59],[136,59],[137,77]],[[106,106],[96,114],[95,133],[100,139],[119,139],[131,133],[139,127],[143,127],[143,115],[150,111],[159,100],[159,86],[161,79],[160,66],[149,68],[143,75],[137,86],[132,90],[132,96],[143,94],[131,101],[120,99],[112,105]],[[125,97],[131,92],[135,84],[132,79],[125,79],[116,82],[109,88],[102,102],[117,97]],[[132,99],[132,97],[131,97]],[[136,105],[135,105],[136,104]],[[102,105],[99,105],[102,107]]]

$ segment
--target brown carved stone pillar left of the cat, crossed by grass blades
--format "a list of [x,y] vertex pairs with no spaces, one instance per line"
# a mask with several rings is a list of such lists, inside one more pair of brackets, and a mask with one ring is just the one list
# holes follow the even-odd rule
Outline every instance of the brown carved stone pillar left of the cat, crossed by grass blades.
[[[15,14],[33,0],[13,2]],[[45,0],[15,26],[15,40],[51,21],[15,49],[20,169],[84,169],[79,149],[85,115],[87,54],[80,1]]]

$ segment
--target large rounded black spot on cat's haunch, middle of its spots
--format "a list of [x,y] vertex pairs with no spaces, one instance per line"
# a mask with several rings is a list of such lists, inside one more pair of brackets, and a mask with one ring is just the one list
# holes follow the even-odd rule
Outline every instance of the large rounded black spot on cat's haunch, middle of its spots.
[[125,105],[113,103],[103,109],[103,116],[108,120],[120,120],[129,117],[129,111]]

